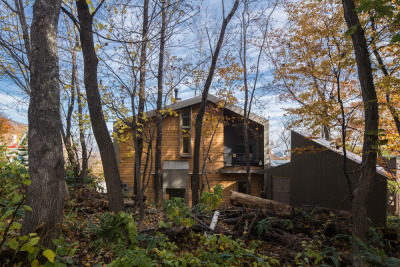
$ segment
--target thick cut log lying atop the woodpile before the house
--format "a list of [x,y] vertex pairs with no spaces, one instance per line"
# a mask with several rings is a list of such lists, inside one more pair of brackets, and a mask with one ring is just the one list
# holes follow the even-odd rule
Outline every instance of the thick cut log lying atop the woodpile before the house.
[[277,210],[289,210],[291,208],[290,205],[285,203],[242,194],[236,191],[231,191],[231,203],[239,203],[251,207],[259,207],[261,209],[270,209],[272,207]]

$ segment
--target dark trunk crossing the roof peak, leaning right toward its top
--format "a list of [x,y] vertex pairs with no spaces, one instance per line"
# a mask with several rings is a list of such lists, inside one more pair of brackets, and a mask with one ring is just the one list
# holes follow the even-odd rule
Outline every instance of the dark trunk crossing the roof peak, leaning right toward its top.
[[224,21],[222,22],[218,43],[212,55],[210,70],[208,72],[208,76],[204,84],[203,93],[201,96],[200,108],[196,116],[194,149],[193,149],[192,206],[199,204],[200,200],[199,199],[200,142],[201,142],[201,128],[203,124],[204,113],[206,112],[207,96],[211,87],[211,82],[217,65],[219,52],[222,47],[222,42],[224,40],[226,27],[228,26],[228,23],[232,19],[233,15],[235,14],[238,6],[239,6],[239,0],[235,0],[232,10],[229,12],[228,16],[224,18]]

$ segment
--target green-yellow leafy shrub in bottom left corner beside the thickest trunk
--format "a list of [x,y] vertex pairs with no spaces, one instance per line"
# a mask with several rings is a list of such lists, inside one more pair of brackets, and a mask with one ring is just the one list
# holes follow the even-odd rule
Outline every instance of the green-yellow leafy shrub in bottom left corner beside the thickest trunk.
[[[27,186],[30,185],[28,170],[18,162],[0,162],[0,263],[5,265],[18,265],[30,263],[39,266],[39,261],[45,266],[67,266],[73,261],[75,253],[72,245],[66,244],[61,237],[54,240],[56,251],[53,252],[40,245],[40,237],[36,233],[19,236],[21,224],[17,221],[23,213],[32,209],[25,204]],[[12,258],[1,255],[9,247],[14,252]]]

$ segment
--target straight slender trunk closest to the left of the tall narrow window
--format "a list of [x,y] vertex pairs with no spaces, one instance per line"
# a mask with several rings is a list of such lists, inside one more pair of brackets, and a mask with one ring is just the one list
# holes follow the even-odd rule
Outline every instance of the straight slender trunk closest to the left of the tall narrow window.
[[160,36],[160,53],[158,56],[158,75],[157,75],[157,137],[156,137],[156,161],[155,161],[155,175],[154,175],[154,201],[156,205],[160,205],[162,200],[161,195],[161,156],[162,156],[162,126],[163,116],[162,97],[163,97],[163,75],[164,75],[164,50],[165,50],[165,1],[161,0],[161,36]]

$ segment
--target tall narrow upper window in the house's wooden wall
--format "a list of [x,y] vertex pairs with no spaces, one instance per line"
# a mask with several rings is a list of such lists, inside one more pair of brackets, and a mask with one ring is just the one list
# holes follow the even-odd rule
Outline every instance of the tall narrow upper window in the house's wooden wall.
[[184,109],[180,116],[180,154],[191,156],[192,154],[192,110]]

